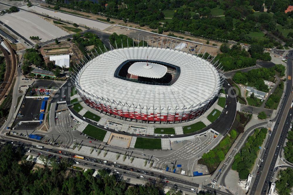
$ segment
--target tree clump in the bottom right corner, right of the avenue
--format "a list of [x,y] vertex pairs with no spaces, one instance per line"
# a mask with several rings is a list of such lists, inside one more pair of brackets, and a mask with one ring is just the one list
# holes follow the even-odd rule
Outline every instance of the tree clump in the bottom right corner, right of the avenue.
[[276,181],[276,188],[279,195],[290,195],[293,187],[293,169],[281,170],[279,179]]

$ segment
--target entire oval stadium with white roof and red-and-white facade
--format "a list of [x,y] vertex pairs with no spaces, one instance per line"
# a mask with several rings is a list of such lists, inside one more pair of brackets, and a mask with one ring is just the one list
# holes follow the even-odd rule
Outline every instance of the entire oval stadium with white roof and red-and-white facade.
[[123,120],[180,123],[198,118],[217,100],[224,79],[212,63],[170,48],[109,50],[73,78],[93,109]]

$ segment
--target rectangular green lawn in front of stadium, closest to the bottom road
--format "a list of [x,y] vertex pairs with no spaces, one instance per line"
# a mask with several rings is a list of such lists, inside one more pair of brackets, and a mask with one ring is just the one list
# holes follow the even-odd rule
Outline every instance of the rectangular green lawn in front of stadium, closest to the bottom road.
[[162,141],[158,138],[136,138],[134,148],[162,150]]

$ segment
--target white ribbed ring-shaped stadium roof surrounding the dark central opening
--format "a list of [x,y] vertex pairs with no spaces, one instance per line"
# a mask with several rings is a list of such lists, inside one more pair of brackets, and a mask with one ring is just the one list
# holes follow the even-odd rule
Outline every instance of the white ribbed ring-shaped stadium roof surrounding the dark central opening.
[[[151,85],[114,77],[126,60],[160,61],[180,67],[180,76],[170,85]],[[220,90],[220,74],[204,59],[179,50],[161,48],[124,48],[105,52],[88,62],[77,75],[79,90],[103,99],[133,106],[135,111],[156,109],[167,113],[188,111],[203,106]],[[200,105],[202,104],[202,105]],[[120,106],[118,106],[120,107]],[[161,109],[161,111],[160,111]]]

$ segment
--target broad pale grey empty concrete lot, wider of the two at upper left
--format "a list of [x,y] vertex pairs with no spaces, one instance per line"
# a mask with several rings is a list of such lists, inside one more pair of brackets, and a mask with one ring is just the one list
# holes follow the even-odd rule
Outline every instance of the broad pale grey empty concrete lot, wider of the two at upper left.
[[43,42],[69,34],[39,16],[26,11],[5,14],[0,16],[0,20],[29,40],[30,36],[38,36]]

